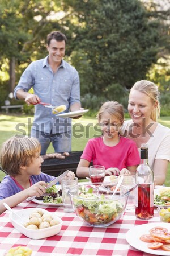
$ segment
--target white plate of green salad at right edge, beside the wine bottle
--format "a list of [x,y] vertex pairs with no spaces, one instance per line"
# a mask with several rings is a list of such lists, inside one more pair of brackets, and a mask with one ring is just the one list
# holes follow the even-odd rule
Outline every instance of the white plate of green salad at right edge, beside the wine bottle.
[[170,187],[159,187],[154,189],[154,206],[170,206]]

